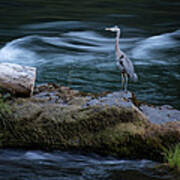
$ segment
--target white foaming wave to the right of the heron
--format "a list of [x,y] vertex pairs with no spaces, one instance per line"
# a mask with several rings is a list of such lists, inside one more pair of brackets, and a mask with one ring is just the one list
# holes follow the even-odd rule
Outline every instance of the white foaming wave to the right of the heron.
[[180,30],[139,41],[132,49],[131,56],[135,59],[142,59],[146,63],[148,62],[147,64],[169,64],[164,51],[169,51],[179,46],[179,42],[174,38],[178,35],[180,35]]

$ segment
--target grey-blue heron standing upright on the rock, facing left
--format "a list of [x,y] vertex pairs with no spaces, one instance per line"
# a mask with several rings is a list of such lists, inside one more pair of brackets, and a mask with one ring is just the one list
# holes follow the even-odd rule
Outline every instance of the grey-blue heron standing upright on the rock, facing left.
[[124,52],[119,49],[119,38],[120,38],[120,28],[114,26],[111,28],[105,28],[106,31],[116,32],[116,64],[121,71],[121,83],[122,89],[127,90],[128,78],[130,77],[134,82],[138,80],[136,73],[134,72],[134,66],[130,59],[126,56]]

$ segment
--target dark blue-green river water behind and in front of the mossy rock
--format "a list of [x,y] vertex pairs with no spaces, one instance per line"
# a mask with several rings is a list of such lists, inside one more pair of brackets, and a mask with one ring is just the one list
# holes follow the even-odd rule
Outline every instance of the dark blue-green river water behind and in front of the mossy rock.
[[[139,77],[129,90],[139,100],[180,109],[179,0],[0,0],[0,17],[0,62],[37,67],[37,84],[55,82],[87,92],[120,89],[115,34],[104,30],[120,26],[120,48]],[[0,154],[1,179],[157,179],[144,174],[154,165],[146,160]]]

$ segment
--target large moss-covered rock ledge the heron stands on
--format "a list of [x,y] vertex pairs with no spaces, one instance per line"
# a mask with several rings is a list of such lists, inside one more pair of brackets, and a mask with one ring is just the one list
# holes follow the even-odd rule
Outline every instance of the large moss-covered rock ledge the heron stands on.
[[130,92],[95,95],[43,85],[32,98],[9,101],[11,114],[0,124],[0,148],[81,150],[161,160],[164,146],[180,142],[180,121],[152,123],[150,111],[142,108],[147,117],[137,104],[145,107]]

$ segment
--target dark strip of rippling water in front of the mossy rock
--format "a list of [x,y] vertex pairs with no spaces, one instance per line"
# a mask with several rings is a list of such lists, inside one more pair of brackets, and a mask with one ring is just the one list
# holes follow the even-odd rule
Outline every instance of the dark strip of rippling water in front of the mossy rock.
[[0,180],[173,180],[157,163],[95,154],[0,150]]

